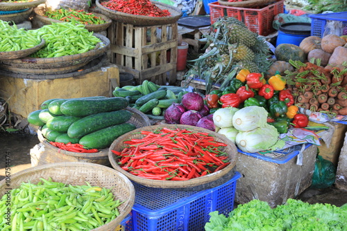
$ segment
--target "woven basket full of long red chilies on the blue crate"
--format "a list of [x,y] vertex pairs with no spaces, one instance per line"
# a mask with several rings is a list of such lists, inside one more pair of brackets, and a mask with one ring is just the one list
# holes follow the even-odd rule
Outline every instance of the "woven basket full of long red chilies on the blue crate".
[[112,143],[108,156],[112,167],[131,181],[178,189],[196,188],[230,174],[237,149],[214,131],[165,124],[124,134]]

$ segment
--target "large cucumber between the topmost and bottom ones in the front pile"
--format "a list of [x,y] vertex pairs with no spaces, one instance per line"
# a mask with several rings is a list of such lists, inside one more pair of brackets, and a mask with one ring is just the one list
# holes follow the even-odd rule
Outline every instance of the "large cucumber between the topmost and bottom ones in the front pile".
[[131,112],[126,110],[101,112],[77,120],[69,129],[67,134],[71,138],[81,138],[89,133],[98,131],[105,127],[122,124],[131,118]]

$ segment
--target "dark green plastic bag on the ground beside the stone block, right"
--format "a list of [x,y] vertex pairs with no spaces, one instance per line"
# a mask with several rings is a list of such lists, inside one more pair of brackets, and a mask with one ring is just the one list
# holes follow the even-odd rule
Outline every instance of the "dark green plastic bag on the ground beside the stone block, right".
[[322,156],[316,157],[314,172],[312,176],[312,188],[324,189],[335,183],[336,167]]

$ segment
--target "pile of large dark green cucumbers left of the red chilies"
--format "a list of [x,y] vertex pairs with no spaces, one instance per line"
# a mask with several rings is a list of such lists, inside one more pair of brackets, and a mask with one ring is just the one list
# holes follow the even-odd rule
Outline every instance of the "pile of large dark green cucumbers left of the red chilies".
[[51,99],[28,115],[28,122],[42,127],[42,136],[53,142],[79,143],[87,149],[110,147],[119,136],[136,129],[124,110],[128,100],[103,96]]

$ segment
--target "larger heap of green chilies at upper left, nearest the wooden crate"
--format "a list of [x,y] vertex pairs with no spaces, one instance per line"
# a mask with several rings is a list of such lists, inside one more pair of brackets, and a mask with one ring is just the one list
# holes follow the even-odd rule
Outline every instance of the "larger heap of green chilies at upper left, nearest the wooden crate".
[[44,47],[31,57],[50,58],[86,53],[101,42],[84,25],[71,22],[52,23],[29,32],[46,41]]

